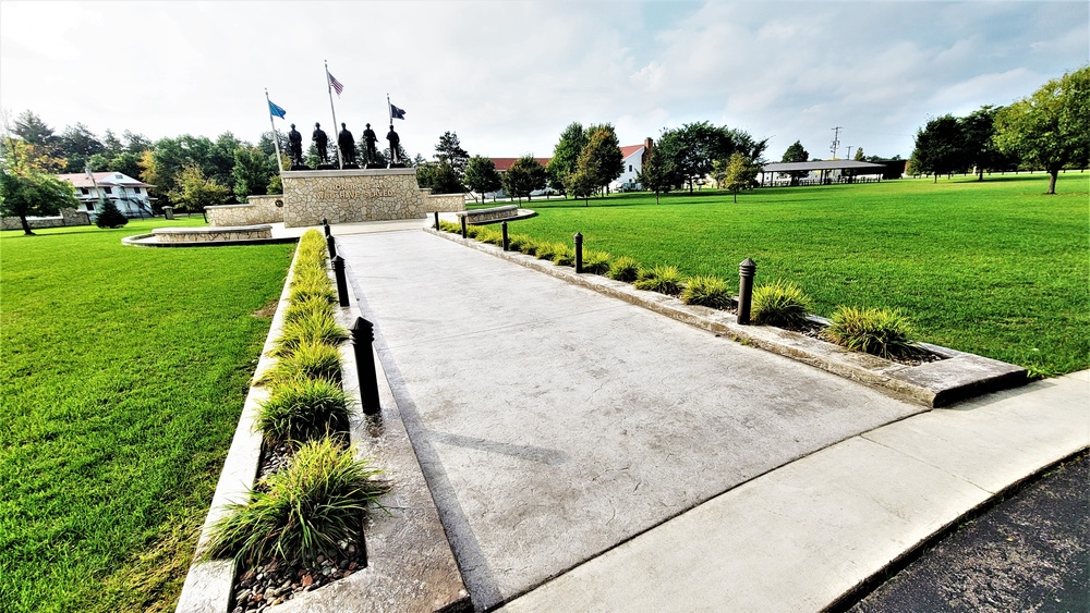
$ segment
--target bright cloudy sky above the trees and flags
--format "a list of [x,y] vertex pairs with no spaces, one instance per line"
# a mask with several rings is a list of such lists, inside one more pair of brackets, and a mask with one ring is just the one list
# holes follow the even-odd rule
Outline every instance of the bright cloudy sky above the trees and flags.
[[[324,62],[344,89],[328,93]],[[152,139],[315,122],[389,125],[410,155],[552,156],[564,128],[621,145],[708,121],[907,158],[931,118],[1007,105],[1090,63],[1090,2],[0,0],[0,110],[57,133]],[[838,132],[834,128],[839,126]]]

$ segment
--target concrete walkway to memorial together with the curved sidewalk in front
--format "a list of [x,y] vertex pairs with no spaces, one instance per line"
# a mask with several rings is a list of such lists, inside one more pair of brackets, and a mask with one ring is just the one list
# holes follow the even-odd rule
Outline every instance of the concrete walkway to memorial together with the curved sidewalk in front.
[[421,225],[334,233],[477,610],[820,610],[1090,441],[1085,372],[924,413]]

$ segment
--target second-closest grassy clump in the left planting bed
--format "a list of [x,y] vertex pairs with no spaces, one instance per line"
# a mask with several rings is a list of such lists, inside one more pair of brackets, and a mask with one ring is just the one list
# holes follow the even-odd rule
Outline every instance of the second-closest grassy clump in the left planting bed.
[[287,379],[258,406],[254,426],[274,445],[306,442],[348,428],[350,404],[348,394],[334,381]]

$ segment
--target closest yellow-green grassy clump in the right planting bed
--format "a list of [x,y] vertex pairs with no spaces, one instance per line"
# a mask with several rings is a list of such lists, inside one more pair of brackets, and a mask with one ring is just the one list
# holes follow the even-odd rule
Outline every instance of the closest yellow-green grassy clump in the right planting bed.
[[829,321],[828,328],[822,332],[824,338],[849,350],[886,359],[912,357],[920,353],[909,339],[911,327],[908,318],[898,310],[841,306],[829,317]]

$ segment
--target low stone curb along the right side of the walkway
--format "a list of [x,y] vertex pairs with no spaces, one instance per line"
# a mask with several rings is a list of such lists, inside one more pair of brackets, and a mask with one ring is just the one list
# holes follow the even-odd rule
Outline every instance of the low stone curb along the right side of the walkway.
[[996,359],[924,343],[930,351],[946,359],[905,366],[789,330],[770,326],[741,326],[734,315],[724,311],[686,305],[673,296],[637,290],[629,283],[597,274],[577,274],[570,267],[556,266],[520,253],[504,252],[495,245],[462,238],[431,226],[424,228],[424,231],[928,407],[946,406],[1027,382],[1025,368]]

